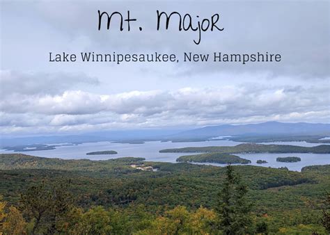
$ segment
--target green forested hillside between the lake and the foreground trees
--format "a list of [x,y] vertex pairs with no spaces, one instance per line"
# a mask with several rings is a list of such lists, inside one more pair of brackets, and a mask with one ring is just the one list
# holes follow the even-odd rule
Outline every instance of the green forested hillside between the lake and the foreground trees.
[[[152,166],[158,171],[137,170],[132,164]],[[324,191],[330,191],[330,165],[306,167],[301,172],[252,165],[234,169],[249,187],[253,218],[267,222],[269,232],[322,234],[320,211]],[[111,220],[111,225],[117,227],[119,234],[132,234],[151,227],[159,216],[174,213],[171,210],[178,210],[176,206],[185,206],[189,213],[197,213],[203,206],[208,211],[205,213],[211,213],[217,205],[225,172],[225,168],[210,165],[145,162],[136,158],[89,161],[1,154],[0,195],[18,206],[20,194],[31,186],[44,182],[52,187],[69,181],[75,206],[85,211],[91,211],[93,206],[116,211],[116,218],[120,219]]]

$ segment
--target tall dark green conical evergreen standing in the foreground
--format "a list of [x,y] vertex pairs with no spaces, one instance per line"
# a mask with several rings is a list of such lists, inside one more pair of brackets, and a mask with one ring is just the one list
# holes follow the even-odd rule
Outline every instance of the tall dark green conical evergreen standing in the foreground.
[[219,193],[216,211],[218,227],[223,234],[246,234],[251,232],[251,204],[246,198],[248,189],[241,183],[232,165],[226,167],[226,179]]

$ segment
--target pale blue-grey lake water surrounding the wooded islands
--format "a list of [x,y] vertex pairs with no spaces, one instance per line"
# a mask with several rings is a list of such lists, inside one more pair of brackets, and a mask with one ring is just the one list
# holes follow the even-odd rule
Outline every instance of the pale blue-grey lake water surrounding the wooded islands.
[[[128,144],[128,143],[110,143],[110,142],[97,142],[97,143],[82,143],[80,145],[64,145],[56,147],[56,149],[44,151],[28,151],[22,152],[33,156],[43,156],[48,158],[60,159],[91,159],[91,160],[107,160],[116,159],[122,156],[135,156],[143,157],[147,161],[164,161],[175,163],[175,160],[182,155],[190,155],[191,153],[159,153],[160,149],[178,148],[178,147],[203,147],[203,146],[235,146],[239,142],[231,140],[210,140],[204,142],[187,142],[187,143],[172,143],[150,141],[143,144]],[[300,142],[275,142],[264,144],[276,145],[297,145],[312,147],[320,144]],[[87,152],[115,150],[118,154],[113,155],[86,155]],[[6,151],[0,149],[0,153],[11,153],[13,151]],[[287,167],[289,170],[299,171],[306,165],[326,165],[330,164],[330,154],[236,154],[244,159],[252,161],[249,165],[259,165],[264,167],[281,168]],[[283,156],[298,156],[301,161],[297,163],[281,163],[277,162],[277,157]],[[265,160],[268,163],[257,164],[257,160]],[[222,164],[213,164],[223,166]]]

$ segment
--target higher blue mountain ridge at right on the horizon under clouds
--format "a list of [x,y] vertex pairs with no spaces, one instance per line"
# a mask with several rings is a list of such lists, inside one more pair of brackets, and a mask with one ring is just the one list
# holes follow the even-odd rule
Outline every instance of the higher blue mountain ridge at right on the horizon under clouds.
[[219,125],[182,131],[171,138],[214,138],[217,136],[330,136],[330,124],[263,122]]

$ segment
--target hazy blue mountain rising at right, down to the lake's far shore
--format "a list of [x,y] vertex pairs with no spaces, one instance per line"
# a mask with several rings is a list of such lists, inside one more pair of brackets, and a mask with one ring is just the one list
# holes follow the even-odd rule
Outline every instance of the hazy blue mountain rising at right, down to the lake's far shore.
[[319,140],[330,136],[330,124],[312,123],[283,123],[263,122],[259,124],[232,125],[203,127],[182,131],[168,136],[168,140],[184,142],[189,140],[207,140],[208,138],[226,137],[230,140],[242,142],[269,142],[269,141],[311,141],[329,143],[329,140]]

